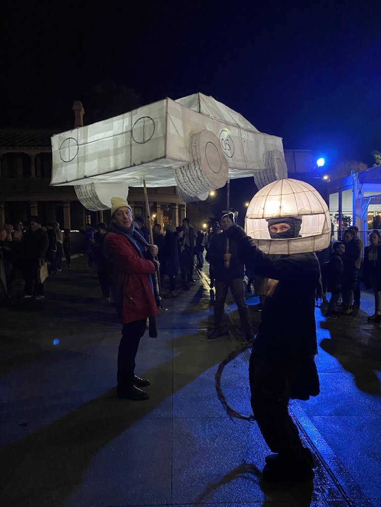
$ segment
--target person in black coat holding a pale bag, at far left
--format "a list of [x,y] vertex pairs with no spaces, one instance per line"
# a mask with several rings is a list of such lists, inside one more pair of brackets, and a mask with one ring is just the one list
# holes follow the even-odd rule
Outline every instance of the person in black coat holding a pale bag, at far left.
[[[53,231],[54,232],[54,231]],[[55,234],[55,233],[54,233]],[[24,298],[43,299],[44,284],[40,281],[39,270],[45,263],[45,255],[49,246],[48,235],[41,227],[38,216],[30,217],[30,229],[23,235],[23,263],[25,276]]]

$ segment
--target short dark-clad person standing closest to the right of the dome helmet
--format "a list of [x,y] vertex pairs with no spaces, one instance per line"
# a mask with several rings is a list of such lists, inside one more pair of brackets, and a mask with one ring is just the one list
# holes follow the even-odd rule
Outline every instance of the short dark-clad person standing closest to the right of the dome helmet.
[[330,255],[328,264],[326,266],[325,279],[327,280],[327,290],[331,293],[331,299],[328,303],[327,317],[337,318],[336,302],[343,287],[344,279],[344,266],[342,263],[342,255],[345,253],[345,245],[342,241],[335,241],[333,243],[333,253]]

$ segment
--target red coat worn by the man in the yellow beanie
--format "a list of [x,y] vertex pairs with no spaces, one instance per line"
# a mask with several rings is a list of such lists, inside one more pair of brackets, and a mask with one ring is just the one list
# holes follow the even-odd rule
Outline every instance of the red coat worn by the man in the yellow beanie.
[[109,281],[120,322],[127,324],[157,314],[150,274],[155,263],[142,259],[122,234],[108,232],[103,245]]

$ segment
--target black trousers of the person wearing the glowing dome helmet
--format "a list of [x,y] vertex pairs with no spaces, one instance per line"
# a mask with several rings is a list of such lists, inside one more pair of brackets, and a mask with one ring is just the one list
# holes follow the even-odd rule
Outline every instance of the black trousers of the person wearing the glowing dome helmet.
[[303,445],[288,409],[293,370],[287,358],[273,360],[251,353],[250,403],[262,436],[272,452],[296,457]]

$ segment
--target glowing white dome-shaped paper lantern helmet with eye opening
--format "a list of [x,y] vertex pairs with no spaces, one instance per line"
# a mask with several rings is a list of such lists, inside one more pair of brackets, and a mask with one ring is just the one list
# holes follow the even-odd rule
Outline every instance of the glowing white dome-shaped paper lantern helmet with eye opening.
[[[300,238],[271,239],[266,219],[295,216],[302,219]],[[319,251],[331,238],[331,219],[323,197],[308,183],[279,179],[251,199],[245,231],[265,253],[285,254]]]

